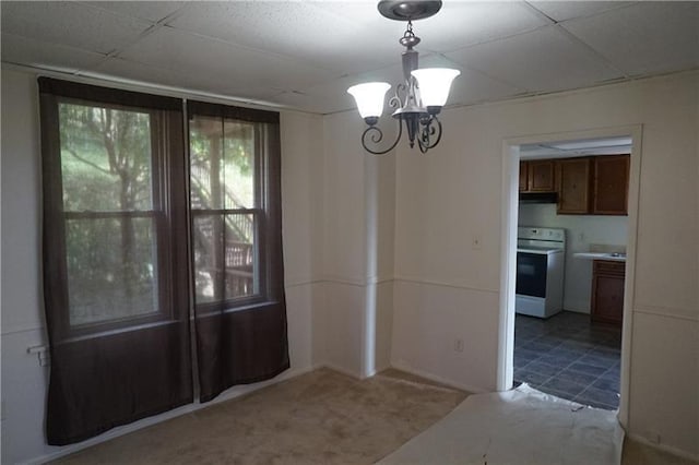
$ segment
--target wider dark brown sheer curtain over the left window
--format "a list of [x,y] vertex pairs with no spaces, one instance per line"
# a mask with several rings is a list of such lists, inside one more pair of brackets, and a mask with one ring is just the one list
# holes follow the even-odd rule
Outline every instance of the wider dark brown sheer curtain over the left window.
[[[63,445],[193,400],[182,103],[45,78],[38,84],[51,356],[46,430],[49,444]],[[146,122],[116,136],[117,117]],[[63,133],[69,123],[84,131]],[[138,172],[126,148],[120,160],[99,158],[105,147],[128,147],[133,134],[150,147],[139,152]],[[122,192],[117,206],[107,205],[115,196],[105,194],[107,184],[92,188],[100,176]],[[134,184],[146,188],[137,195]],[[93,190],[80,196],[82,188]],[[127,283],[126,294],[110,283]],[[115,305],[115,295],[138,306]],[[83,308],[106,310],[86,315]]]

